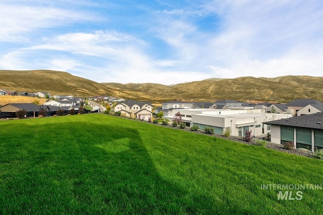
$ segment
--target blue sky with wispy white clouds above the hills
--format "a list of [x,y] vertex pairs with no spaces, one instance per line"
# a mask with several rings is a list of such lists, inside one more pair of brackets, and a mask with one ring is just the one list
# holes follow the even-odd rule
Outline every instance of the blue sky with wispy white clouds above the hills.
[[0,69],[165,85],[323,76],[320,0],[1,0],[0,20]]

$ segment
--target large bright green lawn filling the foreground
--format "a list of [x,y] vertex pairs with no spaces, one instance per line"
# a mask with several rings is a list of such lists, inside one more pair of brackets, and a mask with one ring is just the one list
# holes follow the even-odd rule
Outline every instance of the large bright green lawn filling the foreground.
[[105,114],[6,120],[0,128],[0,214],[323,211],[323,190],[278,200],[279,190],[261,189],[320,185],[320,160]]

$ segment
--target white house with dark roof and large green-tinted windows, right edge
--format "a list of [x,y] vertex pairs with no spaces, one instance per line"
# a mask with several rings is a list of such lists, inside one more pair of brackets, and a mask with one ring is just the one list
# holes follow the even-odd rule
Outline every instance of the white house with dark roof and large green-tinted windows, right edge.
[[271,125],[272,142],[293,142],[295,148],[312,152],[315,148],[323,149],[323,112],[263,123]]

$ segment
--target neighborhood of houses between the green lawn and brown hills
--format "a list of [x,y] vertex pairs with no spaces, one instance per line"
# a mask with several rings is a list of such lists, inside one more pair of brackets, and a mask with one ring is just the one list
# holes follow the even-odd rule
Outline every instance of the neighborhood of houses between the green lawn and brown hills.
[[[153,116],[162,113],[164,120],[174,121],[180,113],[182,122],[187,127],[196,126],[203,130],[212,128],[214,133],[223,134],[227,130],[233,136],[245,136],[250,131],[256,138],[271,136],[271,141],[285,144],[291,141],[295,148],[310,151],[322,148],[320,120],[323,116],[323,103],[313,99],[297,99],[286,104],[249,103],[235,100],[218,100],[215,102],[163,102],[153,108],[149,101],[125,100],[111,96],[93,96],[89,98],[73,95],[52,95],[49,92],[18,93],[17,91],[0,90],[2,96],[24,95],[48,98],[43,104],[10,103],[0,107],[0,118],[15,117],[16,111],[26,110],[25,117],[37,117],[40,111],[46,116],[56,115],[62,110],[65,114],[78,113],[88,104],[92,112],[109,111],[115,115],[150,121]],[[51,99],[50,99],[51,98]],[[307,116],[309,115],[309,116]]]

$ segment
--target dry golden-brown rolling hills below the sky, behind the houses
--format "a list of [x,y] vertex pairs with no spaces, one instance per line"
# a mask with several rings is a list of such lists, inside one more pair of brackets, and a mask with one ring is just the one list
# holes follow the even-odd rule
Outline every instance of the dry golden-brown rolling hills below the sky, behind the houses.
[[163,102],[170,100],[216,101],[276,101],[288,103],[295,99],[323,98],[323,77],[285,76],[278,78],[241,77],[208,79],[171,86],[144,83],[96,83],[72,76],[63,71],[0,70],[0,89],[24,92],[50,92],[52,95],[94,96],[109,95],[138,101]]

